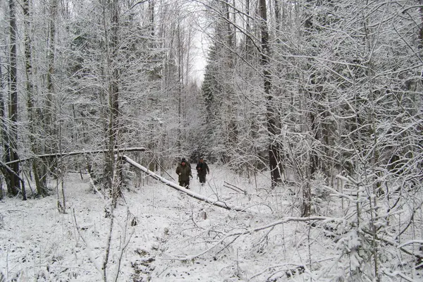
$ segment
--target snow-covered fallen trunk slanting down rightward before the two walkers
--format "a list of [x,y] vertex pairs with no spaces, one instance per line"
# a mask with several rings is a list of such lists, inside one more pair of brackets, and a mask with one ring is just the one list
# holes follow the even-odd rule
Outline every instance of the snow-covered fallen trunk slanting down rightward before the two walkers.
[[221,207],[223,209],[233,210],[233,211],[237,211],[237,212],[244,212],[245,211],[245,209],[242,209],[240,207],[230,207],[225,202],[221,202],[219,200],[215,201],[215,200],[209,199],[207,197],[204,197],[203,195],[200,195],[196,192],[193,192],[189,189],[183,188],[182,186],[175,184],[175,183],[171,182],[170,180],[167,180],[166,178],[158,176],[156,173],[150,171],[145,166],[138,164],[137,162],[133,161],[132,159],[130,159],[129,157],[127,157],[125,155],[123,155],[122,158],[125,159],[125,161],[127,161],[129,164],[132,164],[136,168],[139,168],[141,171],[144,171],[149,176],[152,176],[152,178],[161,181],[161,183],[164,183],[164,184],[168,185],[169,187],[171,187],[173,189],[176,189],[180,192],[184,192],[185,194],[187,194],[190,197],[193,197],[194,199],[197,199],[197,200],[200,200],[200,201],[203,201],[203,202],[207,202],[209,204],[213,204],[214,206]]

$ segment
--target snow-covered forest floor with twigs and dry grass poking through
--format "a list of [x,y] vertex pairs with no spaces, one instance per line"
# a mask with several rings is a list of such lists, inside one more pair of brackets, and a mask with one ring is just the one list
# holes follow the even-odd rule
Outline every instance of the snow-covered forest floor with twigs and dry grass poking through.
[[[335,281],[342,276],[339,250],[324,229],[289,221],[252,231],[298,217],[299,200],[292,192],[269,190],[264,175],[248,180],[211,169],[207,185],[194,178],[191,189],[245,212],[214,207],[145,178],[144,185],[125,192],[113,212],[105,274],[111,219],[105,217],[108,204],[90,190],[87,177],[66,179],[66,214],[59,213],[56,196],[5,199],[0,281],[1,276],[4,281],[104,281],[104,275],[115,281],[117,270],[117,281]],[[224,187],[225,181],[247,195]],[[324,208],[331,214],[336,203]],[[134,219],[137,225],[131,226]]]

